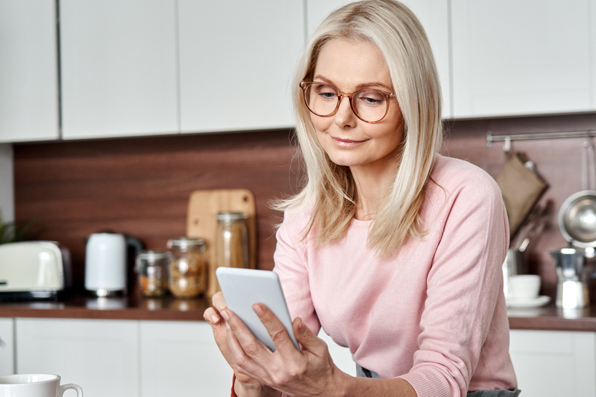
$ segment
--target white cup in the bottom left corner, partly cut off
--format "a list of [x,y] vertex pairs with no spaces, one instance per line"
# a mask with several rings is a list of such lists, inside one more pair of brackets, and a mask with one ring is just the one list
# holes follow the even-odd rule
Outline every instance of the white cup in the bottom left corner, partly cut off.
[[75,389],[77,397],[83,397],[79,385],[60,386],[60,376],[52,374],[17,374],[0,376],[2,397],[62,397],[64,390]]

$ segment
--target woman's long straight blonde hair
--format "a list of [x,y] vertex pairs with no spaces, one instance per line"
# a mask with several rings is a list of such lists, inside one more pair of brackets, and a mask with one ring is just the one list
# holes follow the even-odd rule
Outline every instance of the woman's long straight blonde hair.
[[427,233],[419,211],[442,143],[440,83],[432,49],[418,18],[400,2],[365,0],[345,5],[331,12],[311,36],[292,91],[306,185],[274,208],[298,208],[297,212],[312,208],[306,233],[315,226],[319,244],[339,240],[355,215],[356,186],[349,167],[334,164],[325,154],[299,87],[303,79],[312,79],[321,48],[334,39],[364,40],[380,51],[405,123],[395,180],[368,231],[368,245],[388,256],[408,236],[421,238]]

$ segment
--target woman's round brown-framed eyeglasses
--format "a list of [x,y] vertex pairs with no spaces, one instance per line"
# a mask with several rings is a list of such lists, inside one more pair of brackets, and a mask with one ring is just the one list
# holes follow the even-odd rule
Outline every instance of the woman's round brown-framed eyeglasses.
[[395,93],[375,89],[364,89],[354,93],[341,92],[334,87],[320,82],[300,82],[306,107],[313,114],[329,117],[336,114],[342,96],[350,101],[352,111],[366,123],[378,123],[389,111],[389,100]]

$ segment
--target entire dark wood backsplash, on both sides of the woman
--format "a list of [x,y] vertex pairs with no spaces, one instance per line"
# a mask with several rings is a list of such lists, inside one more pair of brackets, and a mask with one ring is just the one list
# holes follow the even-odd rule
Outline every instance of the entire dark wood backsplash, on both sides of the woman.
[[[473,162],[496,177],[505,164],[502,143],[486,146],[486,132],[596,130],[596,114],[448,120],[443,154]],[[551,227],[529,247],[530,272],[553,295],[556,276],[548,251],[566,245],[556,220],[567,196],[581,189],[583,139],[512,143],[526,152],[550,184],[542,200],[554,201]],[[83,285],[85,237],[102,229],[164,249],[185,233],[190,193],[244,187],[256,199],[259,268],[273,267],[274,224],[281,214],[271,199],[291,195],[301,179],[290,130],[175,135],[14,145],[17,223],[36,218],[40,239],[57,240],[72,252],[73,281]]]

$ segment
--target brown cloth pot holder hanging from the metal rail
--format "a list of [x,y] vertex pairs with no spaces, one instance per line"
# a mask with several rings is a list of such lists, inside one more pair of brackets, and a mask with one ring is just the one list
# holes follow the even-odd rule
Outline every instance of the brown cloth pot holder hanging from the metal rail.
[[522,226],[523,220],[534,207],[538,199],[548,188],[548,184],[535,171],[524,165],[523,154],[511,156],[498,177],[496,183],[501,189],[511,239]]

